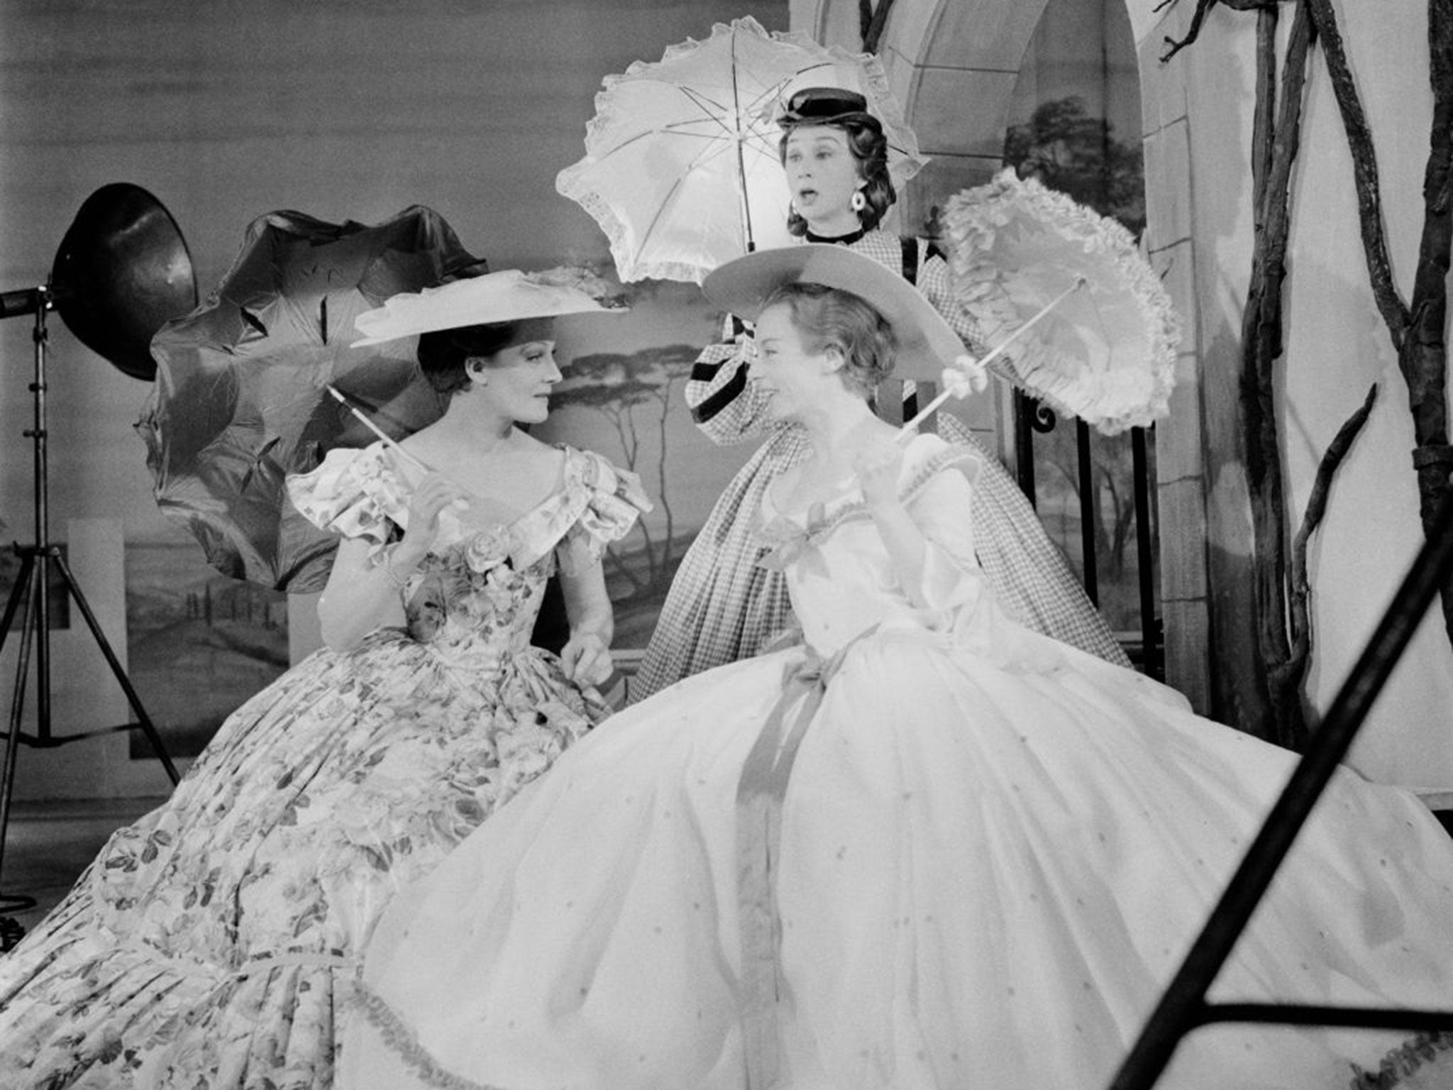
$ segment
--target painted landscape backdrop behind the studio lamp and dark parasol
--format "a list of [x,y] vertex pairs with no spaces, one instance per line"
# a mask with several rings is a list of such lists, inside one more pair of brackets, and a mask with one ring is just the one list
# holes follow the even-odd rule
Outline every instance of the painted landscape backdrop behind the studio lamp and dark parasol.
[[[751,15],[786,29],[786,9],[785,0],[0,0],[0,291],[44,282],[80,203],[110,182],[139,185],[167,206],[203,296],[247,222],[275,209],[376,222],[421,203],[497,269],[604,259],[594,221],[555,192],[555,174],[584,153],[602,77],[705,38],[713,22]],[[683,360],[713,328],[695,288],[658,285],[609,334],[599,323],[588,337],[562,333],[562,360],[644,353],[655,392],[674,405],[663,423],[649,398],[632,420],[583,403],[551,427],[635,458],[649,490],[664,493],[647,526],[651,544],[644,532],[634,538],[634,555],[615,570],[613,590],[636,606],[641,573],[649,581],[679,554],[671,539],[695,532],[747,453],[711,448],[680,410]],[[0,323],[6,542],[29,538],[31,359],[31,320]],[[190,538],[158,513],[132,432],[147,391],[51,323],[52,538],[70,519],[122,520],[132,680],[144,699],[151,690],[157,718],[214,721],[221,711],[203,714],[187,692],[202,676],[241,690],[280,670],[279,610],[211,578]],[[622,642],[644,642],[635,629],[648,628],[649,612],[626,605]],[[6,677],[12,658],[7,647]],[[224,658],[225,670],[212,670]],[[119,689],[100,689],[67,712],[68,728],[125,712]],[[78,789],[48,782],[44,754],[23,760],[20,794]]]

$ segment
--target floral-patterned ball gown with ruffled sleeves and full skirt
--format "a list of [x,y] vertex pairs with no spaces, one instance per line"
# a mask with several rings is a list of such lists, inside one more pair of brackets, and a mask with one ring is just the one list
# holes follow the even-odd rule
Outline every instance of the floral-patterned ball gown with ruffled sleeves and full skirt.
[[[382,560],[408,512],[395,458],[334,451],[294,501]],[[0,958],[0,1087],[333,1086],[382,908],[609,712],[529,634],[556,562],[599,557],[648,507],[631,474],[565,449],[513,525],[445,528],[404,590],[407,631],[320,650],[231,715]]]

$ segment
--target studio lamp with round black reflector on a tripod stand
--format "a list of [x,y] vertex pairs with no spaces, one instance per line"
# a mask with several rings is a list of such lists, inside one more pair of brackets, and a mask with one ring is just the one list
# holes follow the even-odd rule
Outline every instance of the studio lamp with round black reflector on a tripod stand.
[[[142,266],[141,278],[137,278],[135,267],[131,267],[138,265]],[[153,267],[144,267],[147,265]],[[96,292],[99,302],[84,299],[78,291],[80,280],[100,283],[100,289]],[[171,224],[166,209],[155,202],[155,198],[126,185],[105,186],[81,206],[76,224],[61,243],[51,285],[0,294],[0,318],[35,314],[32,334],[35,376],[31,384],[35,411],[33,426],[25,432],[35,451],[35,542],[32,545],[12,545],[12,551],[20,558],[20,568],[16,573],[15,586],[10,589],[4,613],[0,615],[0,650],[4,648],[16,615],[22,616],[15,692],[10,702],[9,730],[4,735],[4,767],[0,773],[0,876],[4,873],[4,847],[10,827],[10,804],[15,795],[16,757],[22,744],[54,748],[81,738],[139,728],[145,732],[171,783],[176,785],[179,780],[176,766],[167,754],[155,724],[147,715],[141,698],[121,666],[121,660],[106,639],[106,634],[102,632],[61,548],[54,545],[49,538],[49,465],[45,414],[45,363],[49,343],[45,315],[52,307],[60,307],[61,315],[81,340],[102,355],[113,358],[113,362],[126,374],[141,378],[147,376],[148,366],[154,369],[147,347],[151,334],[163,321],[179,317],[195,304],[196,286],[192,279],[190,259],[186,256],[174,224]],[[86,621],[106,664],[125,692],[135,722],[64,735],[51,730],[49,587],[52,568],[60,574],[68,602],[76,605]],[[32,651],[36,682],[35,734],[26,734],[22,724]],[[33,904],[35,898],[31,897],[0,894],[0,911],[16,911]],[[17,930],[13,920],[0,917],[0,949],[7,949],[12,945],[12,939],[17,937]]]

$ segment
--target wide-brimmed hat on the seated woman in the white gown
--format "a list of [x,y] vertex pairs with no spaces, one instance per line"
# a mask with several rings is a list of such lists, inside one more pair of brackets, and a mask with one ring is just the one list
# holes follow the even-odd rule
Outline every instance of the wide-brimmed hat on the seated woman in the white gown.
[[785,283],[822,283],[851,292],[892,326],[894,378],[937,382],[965,352],[959,334],[908,280],[844,246],[804,243],[757,250],[711,272],[702,282],[718,307],[756,321],[767,298]]

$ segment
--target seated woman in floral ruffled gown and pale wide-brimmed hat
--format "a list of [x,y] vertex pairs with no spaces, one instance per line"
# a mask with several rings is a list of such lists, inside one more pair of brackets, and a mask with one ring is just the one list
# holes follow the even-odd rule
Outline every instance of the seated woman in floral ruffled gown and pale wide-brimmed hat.
[[[330,647],[232,714],[0,958],[4,1090],[325,1090],[382,908],[607,714],[600,554],[649,504],[631,474],[514,426],[543,420],[561,378],[530,315],[594,308],[558,288],[520,301],[519,276],[436,289],[443,308],[414,296],[453,326],[520,318],[424,333],[436,424],[289,481],[343,536]],[[420,331],[408,302],[375,331]],[[529,647],[556,568],[559,657]]]

